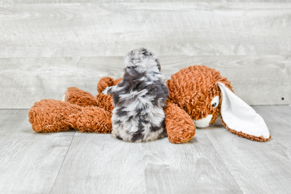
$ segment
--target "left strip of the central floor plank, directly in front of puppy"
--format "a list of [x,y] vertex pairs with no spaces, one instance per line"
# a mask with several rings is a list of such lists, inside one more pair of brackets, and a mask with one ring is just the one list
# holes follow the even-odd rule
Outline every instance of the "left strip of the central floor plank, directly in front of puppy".
[[140,144],[111,134],[75,136],[52,193],[144,193]]

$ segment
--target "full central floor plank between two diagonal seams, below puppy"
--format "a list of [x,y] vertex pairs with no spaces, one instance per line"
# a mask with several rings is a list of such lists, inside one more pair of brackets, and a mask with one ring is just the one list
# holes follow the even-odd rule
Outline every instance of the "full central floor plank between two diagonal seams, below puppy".
[[[65,180],[65,181],[64,181]],[[204,132],[130,143],[76,132],[53,193],[242,193]]]

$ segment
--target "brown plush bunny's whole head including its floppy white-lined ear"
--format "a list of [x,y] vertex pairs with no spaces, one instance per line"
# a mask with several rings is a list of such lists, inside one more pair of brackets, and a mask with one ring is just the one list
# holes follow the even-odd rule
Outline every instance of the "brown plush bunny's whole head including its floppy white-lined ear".
[[270,138],[262,117],[233,93],[230,81],[215,69],[186,67],[173,74],[167,86],[169,99],[191,116],[196,127],[214,124],[221,114],[226,128],[238,136],[255,141]]

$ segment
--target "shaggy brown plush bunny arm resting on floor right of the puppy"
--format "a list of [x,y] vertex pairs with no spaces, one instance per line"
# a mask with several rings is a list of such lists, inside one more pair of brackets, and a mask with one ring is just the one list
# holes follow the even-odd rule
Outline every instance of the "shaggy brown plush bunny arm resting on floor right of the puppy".
[[171,102],[165,106],[164,111],[166,130],[171,143],[184,143],[194,137],[196,128],[188,113]]

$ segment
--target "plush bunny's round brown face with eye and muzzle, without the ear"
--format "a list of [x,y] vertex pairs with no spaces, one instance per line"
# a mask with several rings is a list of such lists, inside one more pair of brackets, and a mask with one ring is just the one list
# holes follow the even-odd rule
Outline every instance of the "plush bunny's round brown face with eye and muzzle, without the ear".
[[230,81],[215,69],[200,65],[186,67],[167,81],[169,98],[194,119],[196,127],[207,127],[214,124],[221,110],[222,94],[217,82],[233,92]]

